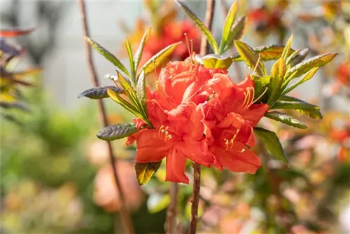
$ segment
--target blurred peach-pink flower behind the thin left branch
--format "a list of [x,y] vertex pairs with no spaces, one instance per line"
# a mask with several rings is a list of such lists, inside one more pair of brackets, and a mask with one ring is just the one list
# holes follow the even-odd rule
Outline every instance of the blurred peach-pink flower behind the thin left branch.
[[[120,186],[125,193],[125,205],[127,209],[135,211],[142,204],[144,194],[135,178],[134,165],[119,160],[116,169],[120,177]],[[94,186],[94,202],[107,212],[117,212],[120,209],[120,198],[116,192],[116,182],[111,165],[106,165],[97,172]]]

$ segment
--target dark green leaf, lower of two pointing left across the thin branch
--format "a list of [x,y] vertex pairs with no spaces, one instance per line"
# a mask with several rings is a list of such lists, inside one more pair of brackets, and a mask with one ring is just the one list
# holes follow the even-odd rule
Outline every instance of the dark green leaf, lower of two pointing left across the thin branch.
[[134,123],[119,123],[100,130],[97,137],[105,141],[113,141],[115,139],[129,137],[136,132],[137,128]]

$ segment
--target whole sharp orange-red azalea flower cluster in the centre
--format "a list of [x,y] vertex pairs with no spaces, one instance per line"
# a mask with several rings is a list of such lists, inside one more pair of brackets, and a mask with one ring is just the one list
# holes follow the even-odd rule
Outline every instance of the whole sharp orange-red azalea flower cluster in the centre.
[[[166,180],[186,184],[186,159],[232,172],[255,173],[260,167],[251,151],[253,127],[269,106],[255,104],[249,77],[235,84],[225,70],[170,62],[146,97],[153,128],[141,129],[127,142],[137,142],[137,163],[166,158]],[[134,123],[146,125],[141,119]]]

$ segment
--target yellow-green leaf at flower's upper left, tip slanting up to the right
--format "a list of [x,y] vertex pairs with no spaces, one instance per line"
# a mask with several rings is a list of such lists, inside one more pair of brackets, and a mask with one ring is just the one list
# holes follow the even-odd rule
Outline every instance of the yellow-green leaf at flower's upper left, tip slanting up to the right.
[[147,76],[152,71],[154,71],[154,69],[159,67],[160,64],[162,64],[162,62],[164,62],[167,59],[167,57],[169,57],[169,55],[173,53],[176,46],[178,46],[179,44],[181,44],[181,41],[167,46],[166,48],[160,50],[160,52],[155,54],[153,57],[151,57],[151,59],[148,60],[143,67],[141,67],[141,71],[145,71],[145,76]]

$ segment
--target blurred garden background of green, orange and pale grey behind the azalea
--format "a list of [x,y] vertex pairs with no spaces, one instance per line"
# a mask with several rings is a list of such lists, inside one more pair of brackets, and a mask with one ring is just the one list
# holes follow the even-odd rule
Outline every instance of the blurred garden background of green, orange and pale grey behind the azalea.
[[[92,87],[78,3],[13,0],[0,4],[1,29],[34,27],[27,35],[1,38],[1,59],[10,54],[15,61],[1,61],[0,232],[123,233],[108,149],[95,137],[101,128],[96,103],[77,98]],[[204,18],[202,1],[186,4]],[[216,3],[218,41],[223,15],[231,4]],[[154,36],[144,56],[183,40],[183,32],[188,32],[195,47],[200,43],[200,32],[169,1],[87,1],[86,7],[91,38],[125,64],[125,37],[136,48],[147,27],[153,27]],[[278,133],[290,167],[267,160],[265,170],[255,175],[203,170],[199,232],[350,233],[350,4],[239,1],[239,15],[247,16],[242,41],[252,47],[286,43],[293,33],[292,47],[309,48],[309,57],[339,55],[293,93],[321,106],[322,121],[303,119],[309,125],[303,131],[262,121]],[[179,50],[171,60],[186,57]],[[113,74],[115,67],[97,53],[94,62],[102,84],[111,85],[103,77]],[[5,71],[28,85],[6,86]],[[235,81],[247,72],[239,63],[230,69]],[[105,103],[111,123],[132,119],[111,100]],[[140,188],[134,176],[134,148],[127,148],[125,140],[113,146],[136,232],[164,233],[169,204],[164,168]],[[180,186],[179,233],[188,225],[191,193],[190,186]]]

